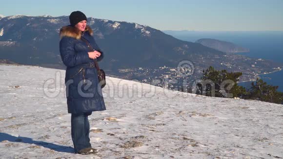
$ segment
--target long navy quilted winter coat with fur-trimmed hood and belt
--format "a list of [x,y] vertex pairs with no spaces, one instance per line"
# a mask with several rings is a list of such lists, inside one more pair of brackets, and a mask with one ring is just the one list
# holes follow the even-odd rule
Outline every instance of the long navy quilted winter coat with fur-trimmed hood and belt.
[[94,60],[88,57],[90,49],[86,42],[81,40],[84,38],[101,53],[101,56],[95,60],[102,60],[103,52],[99,49],[92,34],[89,26],[84,32],[70,25],[60,30],[60,54],[63,63],[67,66],[65,85],[68,113],[106,110],[97,69],[93,67]]

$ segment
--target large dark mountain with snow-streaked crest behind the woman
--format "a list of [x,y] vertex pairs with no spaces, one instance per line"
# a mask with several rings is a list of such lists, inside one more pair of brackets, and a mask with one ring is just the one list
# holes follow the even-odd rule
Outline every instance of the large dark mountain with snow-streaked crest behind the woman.
[[[68,24],[68,16],[4,17],[0,20],[0,41],[16,41],[19,46],[0,46],[1,53],[9,52],[0,54],[0,58],[23,64],[63,66],[59,57],[59,31]],[[88,24],[99,46],[107,53],[105,59],[112,61],[107,64],[102,61],[101,65],[108,69],[177,66],[180,60],[193,54],[224,55],[201,44],[178,40],[160,30],[134,22],[88,18]],[[20,53],[22,51],[25,57]]]

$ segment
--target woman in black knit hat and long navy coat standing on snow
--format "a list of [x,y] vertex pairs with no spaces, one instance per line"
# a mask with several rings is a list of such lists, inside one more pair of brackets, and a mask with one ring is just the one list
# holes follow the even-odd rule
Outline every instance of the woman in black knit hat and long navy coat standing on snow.
[[72,12],[69,20],[70,25],[60,30],[60,54],[67,66],[65,85],[74,149],[85,155],[98,152],[90,144],[88,116],[106,110],[94,64],[94,60],[102,60],[103,53],[82,12]]

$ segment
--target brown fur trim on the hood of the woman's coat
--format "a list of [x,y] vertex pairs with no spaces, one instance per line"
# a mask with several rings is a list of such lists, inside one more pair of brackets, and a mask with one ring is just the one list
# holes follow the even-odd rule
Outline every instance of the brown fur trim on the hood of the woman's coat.
[[[86,25],[84,31],[87,31],[91,36],[93,35],[93,31],[88,25]],[[81,39],[81,33],[82,32],[78,28],[73,27],[71,25],[63,26],[60,29],[60,38],[62,39],[63,37],[71,37],[79,40]]]

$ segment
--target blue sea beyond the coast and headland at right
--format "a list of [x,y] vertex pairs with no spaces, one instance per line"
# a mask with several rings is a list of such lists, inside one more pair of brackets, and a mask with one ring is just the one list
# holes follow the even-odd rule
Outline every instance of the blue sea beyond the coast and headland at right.
[[[235,32],[209,32],[209,31],[164,31],[177,39],[195,42],[209,38],[229,41],[248,48],[247,53],[238,53],[255,59],[268,59],[283,63],[283,31],[235,31]],[[278,91],[283,92],[283,70],[271,74],[259,75],[267,84],[279,86]],[[240,82],[248,88],[251,81]]]

